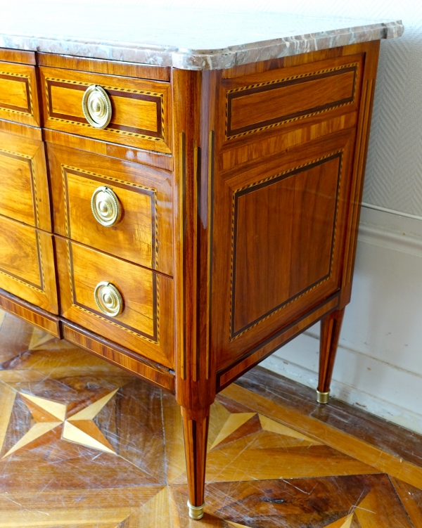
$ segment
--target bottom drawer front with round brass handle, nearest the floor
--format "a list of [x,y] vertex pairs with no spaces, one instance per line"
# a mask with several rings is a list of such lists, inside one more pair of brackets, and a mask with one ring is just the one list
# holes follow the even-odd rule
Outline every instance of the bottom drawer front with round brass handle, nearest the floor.
[[[63,317],[171,368],[172,279],[64,238],[56,237],[56,250]],[[108,284],[121,297],[122,312],[114,316],[95,297],[98,286],[101,302]]]

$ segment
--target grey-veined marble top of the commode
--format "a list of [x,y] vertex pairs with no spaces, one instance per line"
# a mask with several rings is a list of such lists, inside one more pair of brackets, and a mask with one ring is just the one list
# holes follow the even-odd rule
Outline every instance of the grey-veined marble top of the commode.
[[0,0],[0,7],[0,47],[184,70],[390,39],[404,30],[400,20],[146,9],[124,1]]

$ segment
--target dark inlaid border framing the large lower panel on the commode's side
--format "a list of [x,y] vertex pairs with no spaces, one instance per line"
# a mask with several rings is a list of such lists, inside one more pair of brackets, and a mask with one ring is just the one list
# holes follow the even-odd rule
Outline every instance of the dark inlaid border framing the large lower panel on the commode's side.
[[[339,159],[338,180],[337,180],[337,192],[335,194],[335,214],[334,214],[334,224],[333,224],[333,240],[331,243],[331,262],[330,262],[330,270],[328,272],[328,275],[324,276],[324,278],[321,278],[321,280],[317,281],[316,283],[309,285],[308,288],[300,292],[298,295],[294,295],[293,297],[290,297],[286,301],[279,304],[279,306],[274,307],[274,309],[272,309],[269,313],[263,314],[260,318],[255,319],[255,321],[252,321],[247,326],[244,326],[243,328],[240,328],[239,330],[235,330],[234,328],[234,311],[235,311],[235,296],[236,296],[236,243],[235,243],[235,240],[236,240],[236,228],[237,228],[237,202],[238,202],[239,196],[245,195],[252,191],[256,191],[257,186],[265,186],[265,185],[271,185],[272,183],[277,183],[278,181],[281,181],[282,179],[289,178],[290,176],[295,176],[295,174],[309,170],[312,167],[316,167],[316,165],[322,165],[323,163],[334,160],[336,157]],[[303,297],[308,292],[314,290],[315,288],[318,288],[319,285],[328,281],[331,278],[331,271],[333,268],[333,259],[334,259],[334,253],[335,253],[337,224],[338,224],[338,205],[339,205],[338,197],[340,195],[342,175],[343,175],[343,149],[337,150],[334,153],[325,155],[323,157],[319,157],[316,160],[309,161],[305,163],[304,165],[298,165],[298,167],[294,167],[293,169],[288,169],[286,171],[279,172],[278,174],[274,174],[274,176],[269,176],[268,178],[255,181],[254,183],[250,183],[249,185],[243,186],[234,191],[233,198],[232,198],[232,211],[231,211],[231,262],[230,262],[230,312],[229,312],[230,314],[229,315],[229,326],[230,326],[229,340],[230,342],[234,341],[235,339],[237,339],[244,333],[248,332],[252,328],[255,328],[255,326],[259,325],[263,321],[266,321],[269,317],[273,316],[277,312],[286,308],[292,302],[297,301],[298,299],[300,299],[300,297]]]

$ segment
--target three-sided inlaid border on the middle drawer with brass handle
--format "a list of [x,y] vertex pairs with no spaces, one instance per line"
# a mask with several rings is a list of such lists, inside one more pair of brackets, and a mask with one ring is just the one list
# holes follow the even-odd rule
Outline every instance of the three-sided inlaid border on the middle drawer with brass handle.
[[111,176],[105,176],[104,174],[98,174],[97,172],[91,172],[78,167],[72,167],[71,165],[61,165],[61,174],[63,181],[63,199],[65,201],[65,230],[66,236],[72,238],[71,227],[70,227],[70,212],[69,212],[69,200],[68,200],[68,178],[67,174],[74,174],[75,176],[82,176],[88,179],[98,181],[98,183],[105,183],[103,180],[108,180],[115,183],[116,186],[126,188],[129,191],[142,193],[149,195],[151,198],[151,218],[153,219],[152,229],[152,240],[151,240],[151,269],[158,268],[158,214],[157,214],[157,189],[153,187],[146,187],[139,185],[138,183],[132,183],[131,181],[120,180],[118,178],[112,178]]

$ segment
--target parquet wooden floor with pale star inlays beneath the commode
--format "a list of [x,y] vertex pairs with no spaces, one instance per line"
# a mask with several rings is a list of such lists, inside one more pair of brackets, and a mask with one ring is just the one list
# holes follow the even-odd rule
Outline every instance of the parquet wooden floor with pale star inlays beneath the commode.
[[418,528],[422,438],[255,369],[212,406],[191,521],[174,398],[0,311],[0,528]]

